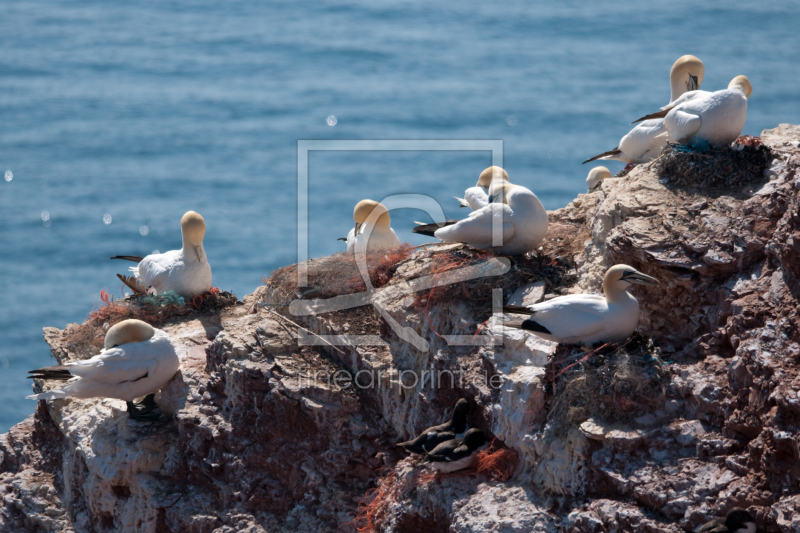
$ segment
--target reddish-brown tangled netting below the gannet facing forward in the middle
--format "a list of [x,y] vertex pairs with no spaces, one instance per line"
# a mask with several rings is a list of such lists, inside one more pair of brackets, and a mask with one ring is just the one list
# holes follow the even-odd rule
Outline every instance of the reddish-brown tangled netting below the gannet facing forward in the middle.
[[[397,266],[411,256],[413,249],[410,244],[402,244],[391,250],[367,254],[367,271],[372,286],[377,289],[386,285]],[[311,259],[305,266],[308,269],[306,287],[297,285],[297,265],[279,268],[262,280],[272,293],[273,303],[288,305],[295,299],[331,298],[367,290],[352,253]]]

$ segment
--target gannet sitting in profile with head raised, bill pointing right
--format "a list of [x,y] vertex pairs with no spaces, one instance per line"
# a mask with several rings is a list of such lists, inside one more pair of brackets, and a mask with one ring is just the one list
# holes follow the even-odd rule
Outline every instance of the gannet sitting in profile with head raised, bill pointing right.
[[628,265],[614,265],[603,278],[605,295],[570,294],[528,307],[507,305],[506,313],[530,318],[504,325],[564,344],[622,342],[639,325],[639,302],[625,290],[631,284],[658,285],[658,280]]

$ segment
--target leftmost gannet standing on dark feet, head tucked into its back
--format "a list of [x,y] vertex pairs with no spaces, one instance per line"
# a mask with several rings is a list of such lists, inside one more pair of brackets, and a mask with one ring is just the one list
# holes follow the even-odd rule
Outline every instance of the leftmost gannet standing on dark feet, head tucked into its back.
[[[123,320],[109,328],[99,355],[28,372],[35,379],[69,382],[61,389],[27,398],[116,398],[125,400],[131,418],[157,420],[161,415],[154,393],[172,379],[179,366],[178,354],[166,333],[141,320]],[[145,395],[141,403],[133,403]]]

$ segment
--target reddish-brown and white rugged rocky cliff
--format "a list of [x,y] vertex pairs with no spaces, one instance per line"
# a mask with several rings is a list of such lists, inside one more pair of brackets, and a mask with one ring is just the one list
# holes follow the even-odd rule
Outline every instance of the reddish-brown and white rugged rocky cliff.
[[[0,529],[679,532],[738,505],[800,531],[800,127],[761,141],[606,180],[530,257],[405,250],[364,297],[333,256],[308,287],[284,269],[164,320],[183,353],[164,420],[40,402],[0,437]],[[621,262],[661,280],[633,289],[625,346],[555,350],[492,312],[597,291]],[[86,327],[45,329],[59,363],[92,352]],[[432,476],[394,446],[460,397],[516,453],[510,479]]]

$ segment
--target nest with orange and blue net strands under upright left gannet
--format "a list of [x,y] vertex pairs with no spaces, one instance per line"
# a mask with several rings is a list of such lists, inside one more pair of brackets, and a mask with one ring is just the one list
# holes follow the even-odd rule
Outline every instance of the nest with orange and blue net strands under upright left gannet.
[[151,326],[161,326],[167,320],[192,314],[213,313],[236,305],[235,294],[212,287],[205,294],[186,302],[172,291],[161,295],[134,294],[114,299],[105,289],[100,291],[100,306],[89,313],[83,324],[68,330],[67,343],[76,353],[93,355],[103,347],[105,332],[118,322],[135,318]]

